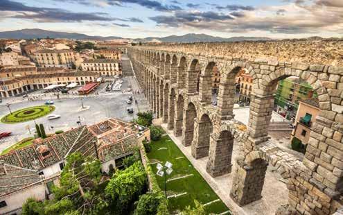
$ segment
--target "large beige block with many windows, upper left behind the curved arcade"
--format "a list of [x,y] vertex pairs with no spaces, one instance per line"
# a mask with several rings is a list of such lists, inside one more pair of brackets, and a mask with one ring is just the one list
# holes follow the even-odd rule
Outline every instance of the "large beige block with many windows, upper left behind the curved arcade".
[[44,49],[35,52],[35,62],[39,67],[64,67],[71,69],[75,65],[78,53],[70,49]]

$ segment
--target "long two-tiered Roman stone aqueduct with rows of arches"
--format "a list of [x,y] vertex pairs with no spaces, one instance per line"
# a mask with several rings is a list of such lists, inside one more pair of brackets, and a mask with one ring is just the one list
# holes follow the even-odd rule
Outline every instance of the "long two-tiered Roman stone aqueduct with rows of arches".
[[[191,147],[195,159],[208,157],[210,175],[229,173],[233,183],[227,194],[237,205],[262,198],[265,171],[268,165],[274,166],[288,189],[288,205],[280,207],[278,214],[333,214],[342,207],[343,62],[338,57],[342,50],[341,40],[161,44],[128,49],[152,111],[175,136],[182,136],[182,144]],[[216,106],[211,104],[214,65],[221,74]],[[241,69],[252,76],[247,126],[233,114],[235,78]],[[276,86],[290,76],[306,80],[319,98],[319,115],[302,161],[268,136]],[[234,144],[239,152],[231,161]]]

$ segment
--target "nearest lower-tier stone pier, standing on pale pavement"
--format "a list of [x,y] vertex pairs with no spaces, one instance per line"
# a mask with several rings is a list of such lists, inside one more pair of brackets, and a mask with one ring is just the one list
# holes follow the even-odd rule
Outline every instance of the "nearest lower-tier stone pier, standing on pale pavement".
[[231,198],[240,206],[262,198],[267,162],[257,160],[253,166],[238,162],[230,191]]

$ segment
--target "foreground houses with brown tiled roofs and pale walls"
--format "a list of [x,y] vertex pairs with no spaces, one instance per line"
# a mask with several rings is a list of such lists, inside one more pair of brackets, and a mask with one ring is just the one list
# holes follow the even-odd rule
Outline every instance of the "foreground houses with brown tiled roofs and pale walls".
[[123,158],[132,155],[150,130],[118,119],[80,126],[37,139],[33,144],[0,156],[0,214],[19,214],[27,198],[51,197],[51,185],[58,185],[66,157],[71,153],[92,156],[103,172],[121,168]]

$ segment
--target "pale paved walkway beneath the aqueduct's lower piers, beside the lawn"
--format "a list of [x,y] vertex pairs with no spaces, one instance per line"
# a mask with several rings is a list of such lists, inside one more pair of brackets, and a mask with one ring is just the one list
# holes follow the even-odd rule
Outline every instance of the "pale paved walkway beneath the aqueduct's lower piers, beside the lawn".
[[[231,189],[232,184],[232,173],[227,175],[222,175],[217,178],[212,178],[209,173],[206,172],[206,162],[208,157],[203,157],[201,159],[195,160],[195,158],[191,155],[191,146],[183,146],[182,145],[182,137],[175,137],[173,135],[173,130],[167,130],[167,125],[161,125],[168,133],[171,139],[175,142],[175,144],[182,150],[182,153],[186,155],[188,160],[191,161],[195,169],[199,171],[202,177],[209,183],[212,189],[220,196],[222,201],[231,209],[234,214],[265,214],[265,215],[272,215],[275,214],[276,209],[280,205],[285,205],[288,202],[288,189],[283,182],[283,179],[279,175],[279,173],[275,172],[273,166],[268,167],[266,175],[265,175],[265,183],[263,185],[262,196],[261,200],[257,200],[254,203],[249,205],[245,205],[244,207],[239,207],[234,203],[229,197],[229,191]],[[234,151],[232,155],[232,161],[235,160],[238,147],[235,141],[234,143]],[[233,166],[233,171],[236,166]]]

